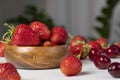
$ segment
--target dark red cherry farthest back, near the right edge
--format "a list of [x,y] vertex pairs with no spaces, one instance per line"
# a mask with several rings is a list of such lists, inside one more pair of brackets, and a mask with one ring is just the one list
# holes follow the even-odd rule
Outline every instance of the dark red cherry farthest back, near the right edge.
[[118,54],[120,53],[120,48],[117,45],[111,45],[104,52],[110,58],[116,58]]

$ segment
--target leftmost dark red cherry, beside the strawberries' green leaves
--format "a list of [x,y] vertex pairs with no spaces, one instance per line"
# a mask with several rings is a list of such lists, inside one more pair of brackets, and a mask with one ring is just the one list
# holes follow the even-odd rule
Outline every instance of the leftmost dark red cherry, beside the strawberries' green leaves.
[[98,49],[96,49],[96,48],[91,48],[90,49],[90,51],[89,51],[89,59],[91,60],[91,61],[93,61],[94,60],[94,58],[97,58],[97,57],[99,57],[99,55],[101,55],[101,53],[98,51]]

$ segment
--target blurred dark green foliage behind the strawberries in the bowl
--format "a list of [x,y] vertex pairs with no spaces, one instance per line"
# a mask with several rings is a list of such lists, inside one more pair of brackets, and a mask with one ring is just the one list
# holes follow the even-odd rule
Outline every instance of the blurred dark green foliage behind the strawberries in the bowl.
[[40,21],[48,26],[49,29],[54,27],[55,23],[52,18],[48,16],[45,11],[39,11],[36,6],[27,5],[24,12],[14,18],[7,19],[5,22],[10,24],[30,24],[32,21]]

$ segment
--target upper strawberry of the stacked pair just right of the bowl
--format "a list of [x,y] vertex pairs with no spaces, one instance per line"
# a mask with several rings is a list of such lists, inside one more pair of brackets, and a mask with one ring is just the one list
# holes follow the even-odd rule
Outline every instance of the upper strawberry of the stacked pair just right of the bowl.
[[77,35],[73,37],[72,40],[70,41],[70,47],[73,47],[78,44],[85,44],[85,42],[86,42],[86,39],[83,36]]

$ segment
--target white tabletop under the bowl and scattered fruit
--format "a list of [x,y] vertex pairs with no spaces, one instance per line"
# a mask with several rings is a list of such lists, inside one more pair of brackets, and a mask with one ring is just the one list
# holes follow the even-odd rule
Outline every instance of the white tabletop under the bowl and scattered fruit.
[[[120,58],[112,59],[112,62],[120,62]],[[0,58],[0,62],[5,62],[5,58]],[[120,80],[113,78],[107,70],[97,69],[88,59],[82,61],[82,72],[76,76],[65,76],[59,68],[46,70],[23,70],[18,69],[21,80]]]

